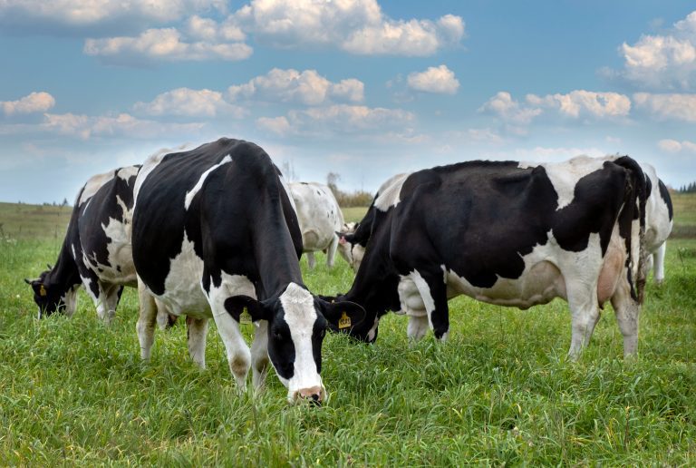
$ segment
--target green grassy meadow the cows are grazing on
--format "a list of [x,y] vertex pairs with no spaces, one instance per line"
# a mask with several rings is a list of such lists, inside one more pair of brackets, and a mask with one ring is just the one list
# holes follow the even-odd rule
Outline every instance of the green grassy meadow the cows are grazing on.
[[[692,466],[696,196],[674,199],[679,236],[665,284],[648,285],[634,359],[623,360],[611,306],[571,363],[564,301],[521,311],[458,297],[444,344],[410,345],[406,317],[393,314],[373,346],[328,335],[321,407],[286,405],[275,373],[264,394],[238,396],[214,325],[207,370],[190,362],[181,324],[158,330],[141,362],[132,289],[111,327],[84,293],[71,319],[36,320],[23,278],[53,264],[53,229],[67,217],[0,204],[0,465]],[[333,269],[318,260],[310,271],[302,259],[313,292],[350,287],[342,259]]]

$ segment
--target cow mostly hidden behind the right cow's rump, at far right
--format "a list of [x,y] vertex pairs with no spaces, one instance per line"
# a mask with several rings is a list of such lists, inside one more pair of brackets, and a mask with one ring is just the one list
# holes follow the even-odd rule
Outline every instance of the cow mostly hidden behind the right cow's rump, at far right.
[[672,197],[655,168],[645,163],[641,167],[648,186],[645,203],[645,249],[651,254],[648,269],[652,265],[652,278],[659,285],[664,280],[664,253],[672,232]]

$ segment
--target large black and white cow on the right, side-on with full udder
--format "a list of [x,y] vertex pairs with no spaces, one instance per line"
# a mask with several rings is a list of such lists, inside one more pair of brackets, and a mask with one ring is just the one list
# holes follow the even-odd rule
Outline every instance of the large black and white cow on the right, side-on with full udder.
[[572,315],[570,356],[589,342],[607,300],[624,354],[636,351],[645,180],[631,158],[469,161],[414,172],[392,189],[368,210],[362,264],[337,297],[367,311],[351,335],[373,342],[392,310],[410,316],[412,338],[430,326],[445,339],[447,301],[461,294],[519,308],[563,297]]

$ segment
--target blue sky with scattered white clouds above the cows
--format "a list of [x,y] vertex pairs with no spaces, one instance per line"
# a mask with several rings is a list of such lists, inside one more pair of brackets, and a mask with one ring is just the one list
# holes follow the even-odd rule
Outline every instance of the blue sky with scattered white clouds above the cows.
[[629,154],[696,180],[696,3],[0,0],[0,200],[220,137],[292,180]]

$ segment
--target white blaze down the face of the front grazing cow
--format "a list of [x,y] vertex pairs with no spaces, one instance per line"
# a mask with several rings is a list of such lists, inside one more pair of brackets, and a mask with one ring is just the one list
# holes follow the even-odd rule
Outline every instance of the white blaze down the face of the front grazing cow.
[[290,283],[280,295],[280,303],[295,345],[295,373],[287,383],[288,400],[292,402],[300,391],[314,387],[321,388],[321,396],[324,399],[326,390],[322,384],[322,377],[316,371],[312,350],[312,333],[317,319],[314,297],[301,286]]

